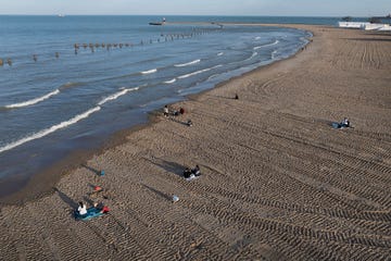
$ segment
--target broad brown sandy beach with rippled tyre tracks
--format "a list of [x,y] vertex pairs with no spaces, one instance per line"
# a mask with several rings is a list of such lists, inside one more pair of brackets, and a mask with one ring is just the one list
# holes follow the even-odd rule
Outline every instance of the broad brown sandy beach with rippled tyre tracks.
[[[0,260],[391,260],[391,35],[289,26],[314,34],[293,58],[3,199]],[[75,221],[80,200],[111,211]]]

